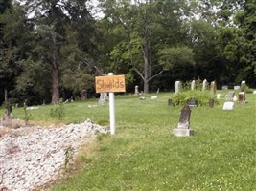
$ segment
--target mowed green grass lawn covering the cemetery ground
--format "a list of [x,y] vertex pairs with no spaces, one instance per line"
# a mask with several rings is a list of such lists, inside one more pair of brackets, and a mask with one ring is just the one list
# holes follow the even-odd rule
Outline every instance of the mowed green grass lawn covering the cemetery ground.
[[[51,189],[62,190],[256,190],[256,95],[246,104],[223,111],[223,95],[214,108],[192,108],[195,136],[176,138],[181,106],[168,106],[171,93],[157,100],[116,96],[116,135],[99,138],[91,152],[81,158],[81,170]],[[65,105],[65,123],[107,122],[108,105],[91,99]],[[52,121],[53,106],[30,111],[34,120]],[[22,109],[14,109],[23,117]],[[81,154],[82,155],[82,154]]]

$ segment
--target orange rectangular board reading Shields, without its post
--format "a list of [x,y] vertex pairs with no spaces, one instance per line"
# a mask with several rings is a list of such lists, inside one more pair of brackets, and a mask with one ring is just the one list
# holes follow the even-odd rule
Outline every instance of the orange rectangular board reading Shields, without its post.
[[126,92],[125,75],[95,77],[96,93]]

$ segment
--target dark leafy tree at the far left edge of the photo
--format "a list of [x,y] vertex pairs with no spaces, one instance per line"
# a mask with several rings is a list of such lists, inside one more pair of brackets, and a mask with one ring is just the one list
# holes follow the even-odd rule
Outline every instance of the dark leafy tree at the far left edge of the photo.
[[[13,94],[16,77],[20,73],[19,60],[23,59],[27,49],[27,32],[25,12],[19,4],[4,1],[0,4],[0,87]],[[1,91],[2,92],[2,91]]]

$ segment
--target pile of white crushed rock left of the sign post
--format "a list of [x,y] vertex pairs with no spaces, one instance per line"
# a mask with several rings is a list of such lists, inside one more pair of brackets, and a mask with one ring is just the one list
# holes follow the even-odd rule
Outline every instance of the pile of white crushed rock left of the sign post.
[[109,133],[89,119],[61,127],[28,128],[0,138],[0,190],[34,190],[57,178],[66,164],[68,148],[76,154],[85,137]]

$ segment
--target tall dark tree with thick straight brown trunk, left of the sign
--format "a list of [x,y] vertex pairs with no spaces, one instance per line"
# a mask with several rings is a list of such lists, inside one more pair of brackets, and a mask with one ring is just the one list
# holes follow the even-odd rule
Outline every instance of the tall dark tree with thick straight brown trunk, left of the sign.
[[[77,43],[78,49],[83,52],[90,52],[93,49],[90,39],[93,23],[85,3],[86,0],[39,0],[26,1],[25,4],[27,11],[35,15],[32,21],[35,23],[36,46],[30,60],[51,66],[52,103],[58,102],[60,70],[65,68],[60,66],[60,60],[65,60],[69,56],[61,54],[62,47],[67,45],[68,30],[72,28],[77,32],[75,37],[81,39]],[[35,66],[41,66],[41,64]]]

